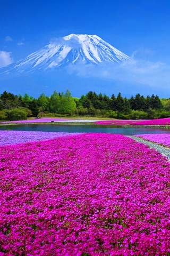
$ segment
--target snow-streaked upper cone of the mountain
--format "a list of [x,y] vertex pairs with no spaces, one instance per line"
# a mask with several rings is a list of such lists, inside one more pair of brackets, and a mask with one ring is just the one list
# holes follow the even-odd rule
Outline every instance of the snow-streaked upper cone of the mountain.
[[117,50],[96,35],[71,34],[53,39],[48,45],[25,59],[0,69],[0,74],[28,73],[39,69],[64,67],[72,63],[121,62],[129,60],[128,55]]

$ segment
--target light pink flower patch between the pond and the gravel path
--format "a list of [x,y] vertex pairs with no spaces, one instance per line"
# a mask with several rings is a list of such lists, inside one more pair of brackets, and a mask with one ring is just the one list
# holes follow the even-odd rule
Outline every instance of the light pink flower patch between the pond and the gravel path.
[[157,144],[170,147],[170,134],[159,133],[159,134],[137,134],[136,137],[142,137],[145,140],[155,142]]

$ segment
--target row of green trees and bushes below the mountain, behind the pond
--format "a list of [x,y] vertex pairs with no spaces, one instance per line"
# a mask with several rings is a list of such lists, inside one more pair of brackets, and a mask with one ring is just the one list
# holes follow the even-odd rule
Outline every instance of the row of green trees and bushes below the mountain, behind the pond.
[[4,91],[0,96],[0,120],[18,120],[37,116],[97,116],[117,119],[155,119],[170,116],[170,99],[139,93],[130,99],[112,94],[88,92],[73,98],[71,92],[56,92],[50,97],[41,93],[38,99],[27,93],[22,96]]

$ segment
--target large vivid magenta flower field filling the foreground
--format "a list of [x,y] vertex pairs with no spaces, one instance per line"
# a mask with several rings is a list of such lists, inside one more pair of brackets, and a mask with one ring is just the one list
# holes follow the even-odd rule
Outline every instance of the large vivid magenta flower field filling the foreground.
[[170,255],[170,164],[120,134],[0,147],[0,255]]

